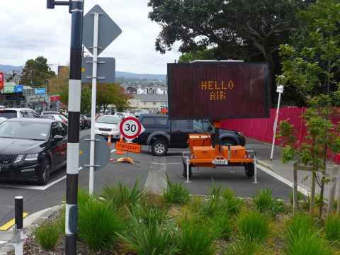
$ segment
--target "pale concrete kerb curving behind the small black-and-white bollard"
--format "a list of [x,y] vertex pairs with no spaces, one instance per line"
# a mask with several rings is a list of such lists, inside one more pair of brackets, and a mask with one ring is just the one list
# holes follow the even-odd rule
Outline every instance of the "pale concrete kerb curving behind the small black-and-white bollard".
[[[32,215],[28,215],[23,220],[23,232],[25,237],[30,236],[36,227],[40,226],[46,220],[50,220],[50,218],[54,217],[58,212],[60,212],[60,210],[62,210],[62,208],[62,205],[56,205],[52,208],[46,208],[39,212],[34,212]],[[0,255],[6,255],[8,251],[12,251],[14,249],[13,244],[11,244],[12,234],[13,227],[5,232],[0,232]]]

